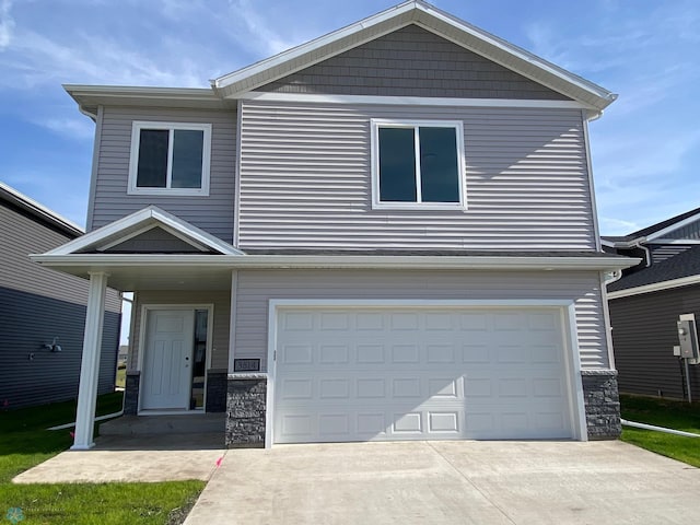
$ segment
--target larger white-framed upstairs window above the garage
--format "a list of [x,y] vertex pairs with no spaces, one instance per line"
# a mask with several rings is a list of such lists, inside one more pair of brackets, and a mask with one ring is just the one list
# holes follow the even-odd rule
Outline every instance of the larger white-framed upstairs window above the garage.
[[460,121],[372,120],[373,208],[465,209]]

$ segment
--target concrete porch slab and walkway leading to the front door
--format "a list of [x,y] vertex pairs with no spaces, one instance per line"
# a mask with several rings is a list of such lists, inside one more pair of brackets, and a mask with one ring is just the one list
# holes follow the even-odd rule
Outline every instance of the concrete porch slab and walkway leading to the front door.
[[90,451],[67,451],[31,468],[15,483],[208,481],[226,454],[223,432],[107,435]]

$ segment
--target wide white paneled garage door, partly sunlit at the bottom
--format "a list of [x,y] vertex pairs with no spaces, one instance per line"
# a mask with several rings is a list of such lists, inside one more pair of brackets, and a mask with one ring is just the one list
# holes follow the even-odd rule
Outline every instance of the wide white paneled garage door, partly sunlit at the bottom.
[[278,310],[275,443],[572,438],[557,308]]

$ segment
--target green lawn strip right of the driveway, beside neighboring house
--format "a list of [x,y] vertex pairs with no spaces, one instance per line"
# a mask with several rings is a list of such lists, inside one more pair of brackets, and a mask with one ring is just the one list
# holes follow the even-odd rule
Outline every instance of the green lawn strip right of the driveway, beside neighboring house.
[[[639,423],[700,434],[700,405],[635,396],[620,396],[622,418]],[[622,441],[700,467],[700,438],[622,427]]]

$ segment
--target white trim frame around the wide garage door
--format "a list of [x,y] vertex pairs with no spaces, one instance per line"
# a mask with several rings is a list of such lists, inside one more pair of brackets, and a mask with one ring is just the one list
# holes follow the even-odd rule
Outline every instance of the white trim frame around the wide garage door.
[[270,299],[268,303],[268,353],[267,353],[267,398],[265,421],[265,447],[273,445],[275,381],[277,369],[278,313],[287,308],[324,307],[394,307],[394,308],[551,308],[559,312],[561,319],[564,366],[567,370],[568,405],[571,417],[571,430],[576,441],[588,441],[585,406],[583,400],[583,381],[581,377],[581,352],[576,325],[575,302],[568,299],[513,299],[513,300],[353,300],[353,299]]

